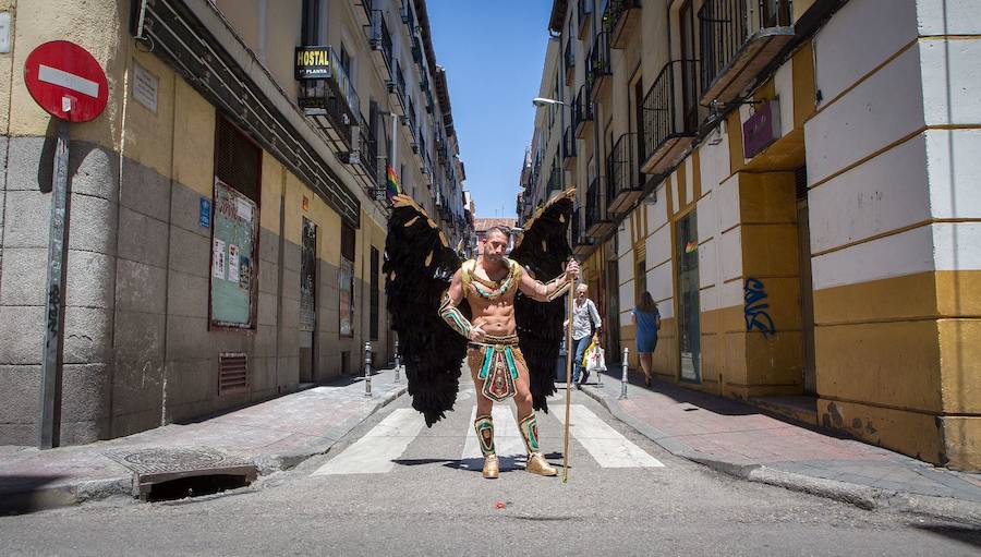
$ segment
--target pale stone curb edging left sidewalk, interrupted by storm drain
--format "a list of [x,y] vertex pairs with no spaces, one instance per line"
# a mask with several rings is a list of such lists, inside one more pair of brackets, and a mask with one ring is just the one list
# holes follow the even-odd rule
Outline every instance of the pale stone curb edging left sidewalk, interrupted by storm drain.
[[[372,407],[358,423],[349,427],[336,427],[330,436],[325,436],[324,443],[311,444],[306,449],[282,453],[264,453],[246,459],[246,463],[255,465],[257,476],[269,475],[275,472],[281,472],[299,465],[301,462],[324,455],[334,447],[344,434],[351,432],[359,424],[371,417],[373,414],[398,400],[399,397],[408,391],[407,385],[401,385],[393,391],[378,398],[375,405]],[[258,477],[257,477],[258,479]],[[63,507],[72,507],[83,502],[107,499],[109,497],[122,495],[125,497],[134,496],[134,475],[124,475],[118,477],[107,477],[98,480],[84,480],[46,486],[24,492],[11,492],[2,494],[0,497],[0,514],[26,514],[39,510],[49,510]]]

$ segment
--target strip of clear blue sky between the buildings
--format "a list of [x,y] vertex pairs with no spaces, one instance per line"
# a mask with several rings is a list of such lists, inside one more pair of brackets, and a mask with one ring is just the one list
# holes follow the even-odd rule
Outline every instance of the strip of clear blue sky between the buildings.
[[548,44],[548,0],[428,0],[476,217],[513,217]]

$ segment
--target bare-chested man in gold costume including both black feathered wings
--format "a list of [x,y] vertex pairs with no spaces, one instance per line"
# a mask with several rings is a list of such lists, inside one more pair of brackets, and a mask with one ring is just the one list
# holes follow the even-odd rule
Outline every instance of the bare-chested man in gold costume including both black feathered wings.
[[[536,209],[513,235],[509,253],[508,231],[488,230],[481,256],[467,262],[414,199],[392,198],[383,271],[412,408],[427,427],[446,417],[467,359],[477,391],[475,428],[485,477],[499,472],[491,407],[510,397],[529,452],[525,469],[556,473],[538,449],[534,412],[548,412],[548,397],[556,392],[567,314],[562,294],[579,274],[568,241],[574,195],[569,189]],[[548,283],[535,280],[556,276]]]

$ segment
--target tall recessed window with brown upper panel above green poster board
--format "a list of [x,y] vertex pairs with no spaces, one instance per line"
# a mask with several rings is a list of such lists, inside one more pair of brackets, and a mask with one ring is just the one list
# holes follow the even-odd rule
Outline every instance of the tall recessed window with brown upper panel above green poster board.
[[218,116],[211,197],[211,327],[255,328],[262,149]]

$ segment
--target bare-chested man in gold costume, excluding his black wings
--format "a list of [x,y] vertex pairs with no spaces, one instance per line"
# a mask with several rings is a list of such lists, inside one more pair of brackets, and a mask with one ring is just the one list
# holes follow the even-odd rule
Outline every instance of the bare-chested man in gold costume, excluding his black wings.
[[[518,425],[528,450],[525,470],[540,475],[556,475],[538,448],[538,429],[532,407],[528,364],[518,347],[514,319],[517,291],[538,302],[562,296],[579,275],[571,259],[564,274],[549,282],[533,278],[518,262],[505,256],[510,232],[499,227],[487,230],[476,259],[469,259],[452,277],[443,295],[439,316],[468,340],[467,360],[476,387],[477,409],[473,424],[484,455],[483,475],[497,477],[499,464],[494,448],[494,402],[513,397]],[[473,320],[458,308],[470,304]]]

